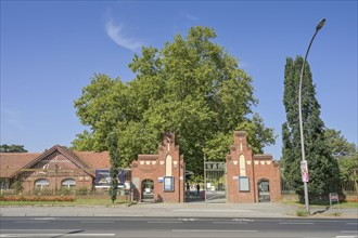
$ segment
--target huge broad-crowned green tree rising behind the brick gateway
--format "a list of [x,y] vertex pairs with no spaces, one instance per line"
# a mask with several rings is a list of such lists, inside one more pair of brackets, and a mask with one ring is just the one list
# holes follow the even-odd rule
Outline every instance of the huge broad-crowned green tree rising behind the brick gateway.
[[116,131],[123,166],[138,154],[156,153],[163,132],[174,132],[188,169],[203,169],[209,160],[225,160],[235,130],[248,131],[254,151],[274,143],[272,129],[253,114],[257,104],[252,78],[222,47],[214,29],[193,27],[164,48],[142,48],[129,64],[136,78],[94,75],[75,102],[81,123],[91,132],[79,134],[76,149],[107,149]]

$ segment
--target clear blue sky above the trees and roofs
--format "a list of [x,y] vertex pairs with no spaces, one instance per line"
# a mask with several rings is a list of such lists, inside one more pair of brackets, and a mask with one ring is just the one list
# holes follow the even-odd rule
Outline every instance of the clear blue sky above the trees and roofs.
[[1,0],[1,144],[42,151],[82,132],[74,101],[94,72],[133,79],[141,45],[162,49],[192,26],[253,77],[255,111],[279,135],[265,148],[281,157],[286,57],[308,62],[321,118],[357,144],[357,1],[3,1]]

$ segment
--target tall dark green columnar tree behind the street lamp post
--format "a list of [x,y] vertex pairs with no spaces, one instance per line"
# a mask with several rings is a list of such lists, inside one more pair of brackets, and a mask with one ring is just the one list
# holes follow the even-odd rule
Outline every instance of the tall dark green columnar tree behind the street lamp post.
[[[283,175],[301,198],[304,194],[299,169],[302,155],[298,120],[298,85],[302,66],[303,57],[297,56],[295,61],[291,57],[286,58],[283,94],[286,121],[282,125]],[[316,98],[312,75],[307,62],[303,78],[302,114],[309,171],[308,190],[309,197],[315,199],[334,189],[332,185],[338,176],[338,168],[324,136],[325,128],[320,119],[320,105]]]

